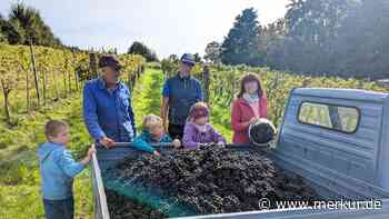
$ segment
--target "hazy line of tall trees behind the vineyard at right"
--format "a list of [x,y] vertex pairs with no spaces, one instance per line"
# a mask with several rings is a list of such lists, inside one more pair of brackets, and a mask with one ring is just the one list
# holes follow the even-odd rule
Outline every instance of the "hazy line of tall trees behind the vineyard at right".
[[261,26],[242,11],[205,59],[316,76],[389,77],[389,1],[290,0],[285,18]]

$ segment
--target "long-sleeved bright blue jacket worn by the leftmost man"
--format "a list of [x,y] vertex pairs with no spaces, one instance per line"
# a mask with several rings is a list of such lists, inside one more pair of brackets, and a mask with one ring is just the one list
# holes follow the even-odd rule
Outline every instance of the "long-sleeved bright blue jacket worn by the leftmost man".
[[89,133],[100,140],[132,141],[136,136],[131,93],[122,82],[110,91],[101,79],[93,79],[83,88],[83,120]]

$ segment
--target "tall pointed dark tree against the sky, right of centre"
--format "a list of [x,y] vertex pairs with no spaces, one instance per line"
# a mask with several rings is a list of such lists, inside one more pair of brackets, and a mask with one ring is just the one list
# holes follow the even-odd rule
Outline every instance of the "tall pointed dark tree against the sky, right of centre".
[[225,38],[221,61],[227,64],[262,64],[263,53],[259,50],[260,31],[257,11],[253,8],[245,9]]

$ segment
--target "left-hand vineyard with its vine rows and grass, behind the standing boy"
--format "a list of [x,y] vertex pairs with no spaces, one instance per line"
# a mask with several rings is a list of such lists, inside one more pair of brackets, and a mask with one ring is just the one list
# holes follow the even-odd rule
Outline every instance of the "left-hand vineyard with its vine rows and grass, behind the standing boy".
[[[98,76],[100,53],[0,43],[0,218],[42,218],[36,149],[48,119],[71,127],[71,150],[84,155],[90,142],[81,117],[81,90]],[[133,88],[142,71],[140,56],[120,54],[122,80]],[[74,185],[77,218],[91,218],[89,171]],[[31,217],[33,216],[33,217]]]

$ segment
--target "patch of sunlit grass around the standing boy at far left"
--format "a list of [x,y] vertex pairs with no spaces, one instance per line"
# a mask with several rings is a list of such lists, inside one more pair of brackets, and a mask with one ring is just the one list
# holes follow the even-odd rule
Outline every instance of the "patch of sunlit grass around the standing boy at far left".
[[[18,123],[9,127],[0,123],[0,218],[43,218],[40,196],[40,176],[36,149],[44,141],[43,126],[48,119],[63,119],[71,126],[71,150],[80,158],[89,136],[81,118],[80,93],[67,100],[26,116],[19,115]],[[91,218],[90,177],[87,169],[74,182],[77,218]]]

